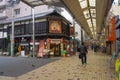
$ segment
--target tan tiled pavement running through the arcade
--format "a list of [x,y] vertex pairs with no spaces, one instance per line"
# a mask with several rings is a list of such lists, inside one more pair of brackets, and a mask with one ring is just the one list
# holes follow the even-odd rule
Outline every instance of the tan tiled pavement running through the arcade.
[[110,56],[89,51],[87,57],[86,65],[78,56],[62,57],[22,76],[1,76],[0,80],[115,80],[114,70],[109,67]]

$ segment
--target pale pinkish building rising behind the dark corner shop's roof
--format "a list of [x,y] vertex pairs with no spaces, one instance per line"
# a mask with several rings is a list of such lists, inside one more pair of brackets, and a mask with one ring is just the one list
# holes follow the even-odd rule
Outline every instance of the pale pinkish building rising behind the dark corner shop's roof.
[[[12,9],[8,3],[9,0],[0,0],[0,21],[10,20],[12,18]],[[14,18],[25,17],[32,15],[32,8],[27,4],[20,1],[19,4],[13,6],[14,9]],[[53,10],[47,5],[41,5],[34,8],[34,13],[43,13]]]

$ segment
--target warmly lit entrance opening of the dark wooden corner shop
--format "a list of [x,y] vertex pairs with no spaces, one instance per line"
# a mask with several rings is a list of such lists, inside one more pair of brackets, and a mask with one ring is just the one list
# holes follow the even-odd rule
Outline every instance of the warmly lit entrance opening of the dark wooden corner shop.
[[54,56],[61,56],[60,44],[51,43],[50,44],[50,50],[51,50],[51,52],[53,52]]

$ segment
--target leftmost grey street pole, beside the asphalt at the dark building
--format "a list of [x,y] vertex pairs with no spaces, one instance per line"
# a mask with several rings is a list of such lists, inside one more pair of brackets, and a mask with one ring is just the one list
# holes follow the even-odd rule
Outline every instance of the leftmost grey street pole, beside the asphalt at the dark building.
[[14,53],[14,8],[12,7],[12,35],[11,35],[11,56]]

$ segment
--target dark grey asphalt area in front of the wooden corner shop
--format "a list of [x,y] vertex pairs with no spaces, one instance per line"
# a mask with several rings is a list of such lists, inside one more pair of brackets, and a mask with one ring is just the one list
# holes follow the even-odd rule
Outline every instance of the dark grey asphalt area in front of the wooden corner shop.
[[59,58],[0,57],[0,76],[18,77],[56,60]]

